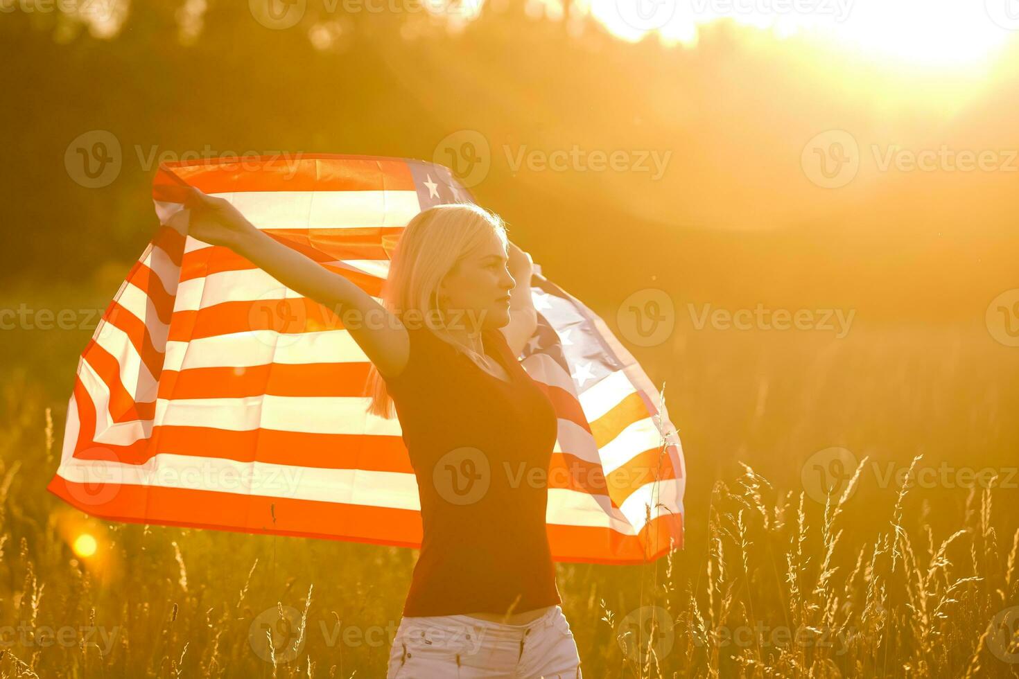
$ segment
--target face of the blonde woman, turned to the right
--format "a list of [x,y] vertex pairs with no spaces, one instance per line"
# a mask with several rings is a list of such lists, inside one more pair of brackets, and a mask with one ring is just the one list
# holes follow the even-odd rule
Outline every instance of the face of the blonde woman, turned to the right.
[[474,333],[509,323],[509,291],[517,281],[506,260],[502,241],[492,233],[446,274],[439,286],[439,306],[447,325]]

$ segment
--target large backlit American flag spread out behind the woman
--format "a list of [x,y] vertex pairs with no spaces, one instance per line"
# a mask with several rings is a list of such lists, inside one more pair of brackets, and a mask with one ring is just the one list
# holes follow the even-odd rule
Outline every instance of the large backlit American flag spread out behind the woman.
[[[474,200],[447,168],[410,159],[161,166],[160,226],[78,360],[48,490],[115,521],[420,547],[399,422],[366,412],[367,356],[330,309],[187,236],[185,220],[171,225],[182,184],[229,200],[379,301],[411,218]],[[558,415],[547,477],[552,557],[656,559],[683,544],[679,439],[658,391],[604,322],[535,271],[538,327],[522,364]]]

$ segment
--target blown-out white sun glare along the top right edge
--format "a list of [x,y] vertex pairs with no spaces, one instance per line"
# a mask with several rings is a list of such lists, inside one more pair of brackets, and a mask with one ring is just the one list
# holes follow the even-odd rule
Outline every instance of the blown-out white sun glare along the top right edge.
[[631,42],[656,33],[667,45],[692,46],[699,26],[729,19],[779,38],[806,34],[835,41],[863,58],[959,66],[994,56],[1019,27],[1013,25],[1019,15],[1013,17],[1007,5],[1013,1],[585,0],[576,5]]

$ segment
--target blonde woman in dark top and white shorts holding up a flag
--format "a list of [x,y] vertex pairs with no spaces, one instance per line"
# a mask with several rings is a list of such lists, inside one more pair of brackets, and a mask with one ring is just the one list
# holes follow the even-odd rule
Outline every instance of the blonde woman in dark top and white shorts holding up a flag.
[[582,677],[545,532],[555,412],[517,359],[536,324],[532,262],[498,216],[417,215],[379,304],[229,202],[191,191],[190,235],[341,315],[372,362],[369,410],[399,419],[424,534],[387,679]]

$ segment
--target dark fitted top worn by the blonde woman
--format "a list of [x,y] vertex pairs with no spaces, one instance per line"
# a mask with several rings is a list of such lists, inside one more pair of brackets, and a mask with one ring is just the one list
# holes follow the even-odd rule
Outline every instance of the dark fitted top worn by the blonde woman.
[[556,415],[499,330],[487,373],[420,324],[386,380],[421,500],[423,537],[405,616],[519,613],[560,604],[545,509]]

